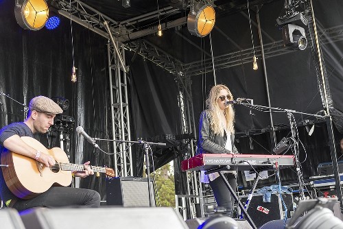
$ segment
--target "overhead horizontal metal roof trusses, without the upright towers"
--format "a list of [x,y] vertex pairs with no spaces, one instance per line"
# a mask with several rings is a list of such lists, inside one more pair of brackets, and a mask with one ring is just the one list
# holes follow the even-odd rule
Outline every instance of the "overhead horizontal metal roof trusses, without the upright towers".
[[[116,40],[121,43],[126,42],[132,38],[136,39],[141,36],[146,36],[148,34],[156,32],[156,29],[151,28],[143,29],[139,32],[132,32],[132,29],[127,29],[127,27],[129,26],[132,27],[132,20],[127,20],[123,22],[115,21],[79,0],[71,1],[71,3],[68,0],[53,1],[55,1],[61,6],[62,9],[59,10],[59,12],[62,16],[66,16],[67,18],[70,18],[76,23],[79,23],[80,25],[83,25],[84,27],[87,27],[88,29],[91,29],[93,32],[96,32],[97,34],[100,34],[106,38],[108,38],[108,33],[104,27],[104,21],[108,21],[110,31],[115,36]],[[143,21],[145,19],[150,19],[155,14],[176,12],[177,10],[168,7],[158,10],[156,12],[141,15],[139,16],[139,18],[135,20]],[[165,27],[163,27],[163,29],[169,29],[171,27],[176,27],[178,25],[183,25],[185,23],[187,23],[187,20],[185,18],[177,19],[175,21],[165,23]],[[322,43],[330,43],[342,40],[343,26],[340,25],[337,27],[322,29],[319,32],[319,37],[322,39]],[[175,69],[178,69],[178,71],[182,71],[182,73],[185,73],[185,75],[193,76],[213,71],[213,64],[211,58],[204,60],[203,62],[198,61],[183,63],[180,60],[176,60],[176,58],[170,56],[165,51],[158,49],[158,47],[147,42],[147,40],[128,42],[126,44],[126,48],[131,51],[135,51],[140,56],[143,56],[143,58],[154,62],[154,64],[169,71],[170,73],[174,73]],[[263,48],[265,50],[265,58],[271,58],[274,56],[279,56],[294,51],[284,47],[282,40],[263,45]],[[256,47],[255,53],[257,53],[257,58],[261,57],[261,47]],[[228,53],[223,56],[215,57],[214,65],[215,69],[225,69],[237,66],[239,64],[252,62],[252,58],[253,50],[244,49],[240,51],[235,51],[233,53]]]

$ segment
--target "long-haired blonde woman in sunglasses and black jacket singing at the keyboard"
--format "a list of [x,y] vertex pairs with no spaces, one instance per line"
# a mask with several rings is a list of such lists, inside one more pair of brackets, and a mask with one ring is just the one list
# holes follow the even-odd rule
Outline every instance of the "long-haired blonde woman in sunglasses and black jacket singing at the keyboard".
[[[238,154],[234,145],[235,112],[233,106],[226,101],[233,100],[233,95],[225,85],[216,85],[211,88],[206,100],[207,110],[200,115],[198,154]],[[228,171],[225,174],[233,190],[237,189],[235,173]],[[202,182],[209,182],[218,207],[224,208],[224,215],[231,216],[233,204],[230,191],[226,187],[219,173],[202,173]]]

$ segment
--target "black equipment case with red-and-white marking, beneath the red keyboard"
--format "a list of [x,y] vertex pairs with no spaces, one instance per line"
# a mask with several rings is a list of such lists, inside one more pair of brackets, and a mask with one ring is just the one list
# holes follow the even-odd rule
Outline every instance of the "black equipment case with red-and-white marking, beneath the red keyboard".
[[[287,218],[290,218],[293,214],[293,195],[282,194],[283,201],[287,206]],[[245,204],[248,199],[248,195],[240,197],[241,203]],[[248,214],[252,221],[254,221],[257,228],[275,219],[283,219],[285,217],[285,210],[279,194],[272,194],[271,202],[264,203],[262,194],[252,195],[250,204],[248,206]]]

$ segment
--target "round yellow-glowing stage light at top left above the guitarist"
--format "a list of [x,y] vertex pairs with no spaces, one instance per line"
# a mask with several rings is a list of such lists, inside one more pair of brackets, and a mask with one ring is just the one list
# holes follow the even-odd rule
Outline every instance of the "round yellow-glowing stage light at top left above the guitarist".
[[14,14],[23,29],[38,30],[47,22],[49,9],[45,0],[16,0]]

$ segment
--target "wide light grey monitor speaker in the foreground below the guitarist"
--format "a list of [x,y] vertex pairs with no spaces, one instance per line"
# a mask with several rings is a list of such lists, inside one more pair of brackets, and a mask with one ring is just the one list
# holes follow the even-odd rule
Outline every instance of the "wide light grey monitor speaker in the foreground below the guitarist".
[[38,208],[21,217],[26,229],[188,229],[180,213],[162,207]]

